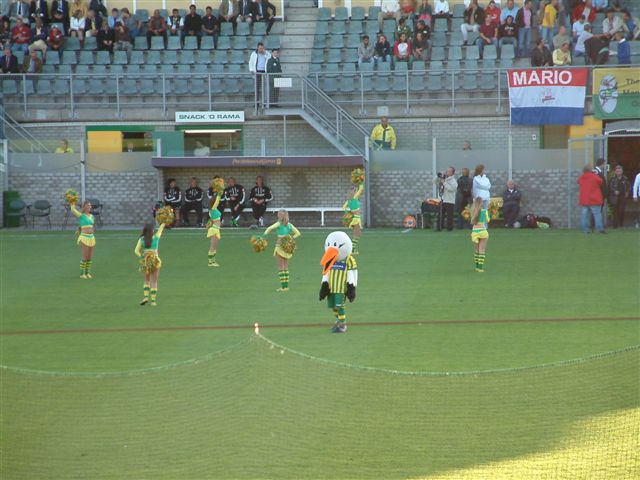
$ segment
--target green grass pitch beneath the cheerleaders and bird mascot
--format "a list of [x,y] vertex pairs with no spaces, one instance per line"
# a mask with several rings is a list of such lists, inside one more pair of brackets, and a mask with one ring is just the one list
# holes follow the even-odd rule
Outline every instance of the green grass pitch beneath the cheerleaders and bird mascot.
[[224,229],[214,269],[168,231],[156,308],[138,232],[93,280],[71,231],[1,232],[0,478],[640,476],[636,231],[493,229],[477,274],[466,232],[365,230],[346,335],[329,232],[277,293],[273,237]]

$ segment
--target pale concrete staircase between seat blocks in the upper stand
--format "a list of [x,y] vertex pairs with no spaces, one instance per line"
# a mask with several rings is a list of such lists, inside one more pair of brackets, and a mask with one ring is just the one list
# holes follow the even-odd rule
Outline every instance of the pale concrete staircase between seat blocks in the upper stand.
[[306,75],[309,71],[318,9],[313,0],[289,0],[285,7],[282,47],[282,71]]

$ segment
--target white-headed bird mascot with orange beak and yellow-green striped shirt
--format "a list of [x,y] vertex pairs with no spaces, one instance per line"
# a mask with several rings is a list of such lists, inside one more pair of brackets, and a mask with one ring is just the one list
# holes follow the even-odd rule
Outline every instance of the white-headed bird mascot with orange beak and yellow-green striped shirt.
[[351,254],[352,249],[351,239],[344,232],[332,232],[324,242],[324,255],[320,260],[320,300],[327,299],[327,305],[336,317],[336,323],[331,329],[333,333],[346,333],[346,299],[353,302],[356,298],[358,265]]

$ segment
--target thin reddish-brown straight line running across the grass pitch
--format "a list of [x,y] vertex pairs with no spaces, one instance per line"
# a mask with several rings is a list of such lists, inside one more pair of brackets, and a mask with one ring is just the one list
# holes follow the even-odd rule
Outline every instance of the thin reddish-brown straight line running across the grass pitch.
[[[524,319],[485,319],[485,320],[413,320],[406,322],[349,322],[350,327],[392,327],[401,325],[462,325],[486,323],[546,323],[546,322],[611,322],[637,321],[640,317],[566,317],[566,318],[524,318]],[[260,328],[327,328],[327,323],[274,323],[261,324]],[[185,325],[175,327],[115,327],[115,328],[69,328],[60,330],[10,330],[0,332],[0,336],[8,335],[57,335],[68,333],[128,333],[128,332],[174,332],[197,330],[248,330],[254,323],[246,325]]]

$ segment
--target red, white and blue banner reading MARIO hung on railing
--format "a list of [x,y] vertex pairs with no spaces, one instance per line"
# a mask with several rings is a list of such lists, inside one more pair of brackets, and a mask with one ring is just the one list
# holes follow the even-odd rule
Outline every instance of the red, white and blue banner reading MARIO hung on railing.
[[582,125],[586,68],[509,70],[511,125]]

